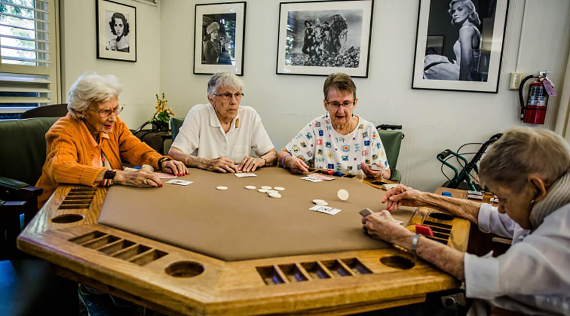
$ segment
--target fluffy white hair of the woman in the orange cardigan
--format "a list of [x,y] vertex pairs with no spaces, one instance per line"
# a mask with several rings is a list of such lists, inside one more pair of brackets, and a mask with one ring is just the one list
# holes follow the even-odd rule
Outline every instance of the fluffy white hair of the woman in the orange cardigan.
[[101,76],[96,72],[88,71],[71,85],[70,94],[67,98],[67,111],[75,118],[77,111],[83,112],[87,107],[99,102],[105,102],[113,97],[119,98],[123,87],[119,79],[112,74]]

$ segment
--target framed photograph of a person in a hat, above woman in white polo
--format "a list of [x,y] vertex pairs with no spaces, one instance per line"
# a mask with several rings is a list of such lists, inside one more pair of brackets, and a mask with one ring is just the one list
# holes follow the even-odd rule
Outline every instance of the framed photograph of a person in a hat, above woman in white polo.
[[243,75],[246,2],[196,5],[194,73]]

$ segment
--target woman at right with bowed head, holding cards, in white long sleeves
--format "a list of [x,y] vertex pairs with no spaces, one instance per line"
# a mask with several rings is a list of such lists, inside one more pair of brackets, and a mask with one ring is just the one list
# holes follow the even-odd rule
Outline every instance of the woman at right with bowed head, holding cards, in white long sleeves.
[[[568,144],[549,130],[511,128],[491,145],[479,169],[481,180],[499,198],[498,207],[398,185],[382,201],[388,202],[388,210],[362,222],[369,234],[465,280],[466,296],[481,299],[477,305],[570,315]],[[512,246],[498,257],[459,252],[393,221],[389,211],[400,205],[433,207],[467,218],[483,231],[512,238]]]

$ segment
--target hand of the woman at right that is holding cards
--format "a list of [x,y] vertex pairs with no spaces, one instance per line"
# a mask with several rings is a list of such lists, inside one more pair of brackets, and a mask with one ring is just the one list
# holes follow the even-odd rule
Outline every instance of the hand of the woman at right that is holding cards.
[[410,231],[401,226],[387,210],[363,217],[362,223],[370,236],[389,243],[394,243],[395,239],[410,234]]

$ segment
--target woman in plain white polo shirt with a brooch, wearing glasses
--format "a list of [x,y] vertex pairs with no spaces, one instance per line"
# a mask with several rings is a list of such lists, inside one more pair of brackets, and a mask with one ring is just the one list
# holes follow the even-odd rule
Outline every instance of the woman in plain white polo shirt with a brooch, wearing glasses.
[[[250,172],[272,165],[277,152],[259,114],[240,106],[243,82],[230,72],[208,81],[209,104],[190,109],[168,154],[196,167],[217,172]],[[253,150],[259,157],[250,156]]]

